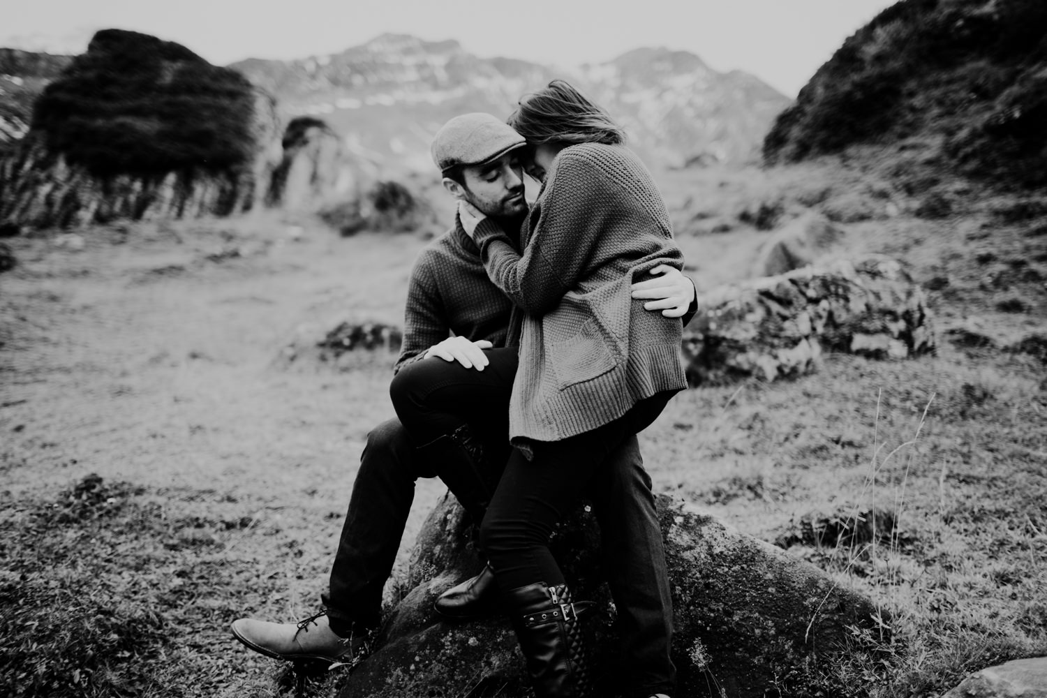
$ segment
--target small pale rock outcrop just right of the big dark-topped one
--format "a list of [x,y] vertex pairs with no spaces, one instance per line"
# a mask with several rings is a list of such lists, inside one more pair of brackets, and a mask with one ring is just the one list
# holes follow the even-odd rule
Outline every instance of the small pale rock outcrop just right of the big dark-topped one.
[[327,123],[309,116],[291,119],[282,144],[283,159],[266,195],[270,206],[315,210],[333,201],[359,198],[359,177],[346,145]]

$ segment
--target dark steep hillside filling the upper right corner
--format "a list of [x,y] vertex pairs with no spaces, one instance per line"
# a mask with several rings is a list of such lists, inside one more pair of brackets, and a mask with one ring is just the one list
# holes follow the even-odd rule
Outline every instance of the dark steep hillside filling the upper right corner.
[[1047,3],[904,0],[818,70],[763,154],[796,162],[871,143],[897,150],[895,174],[915,188],[952,172],[1041,187],[1045,122]]

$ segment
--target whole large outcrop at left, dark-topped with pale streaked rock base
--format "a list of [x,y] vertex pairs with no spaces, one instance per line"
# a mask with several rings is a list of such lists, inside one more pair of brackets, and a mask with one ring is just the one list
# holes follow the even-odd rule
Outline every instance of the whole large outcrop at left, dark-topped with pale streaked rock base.
[[[106,94],[120,95],[99,98],[95,83],[111,82],[106,71],[128,61],[137,72],[117,71],[127,84],[107,83]],[[155,99],[138,94],[142,80]],[[37,100],[34,125],[0,158],[0,224],[248,210],[262,202],[280,152],[269,95],[177,44],[130,31],[95,35]]]

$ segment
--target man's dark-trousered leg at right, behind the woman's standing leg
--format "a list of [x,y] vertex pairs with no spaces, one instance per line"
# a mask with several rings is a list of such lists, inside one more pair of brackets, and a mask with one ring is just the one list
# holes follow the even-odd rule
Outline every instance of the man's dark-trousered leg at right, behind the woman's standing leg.
[[672,596],[651,479],[637,437],[607,456],[592,483],[602,557],[630,670],[627,696],[672,694]]

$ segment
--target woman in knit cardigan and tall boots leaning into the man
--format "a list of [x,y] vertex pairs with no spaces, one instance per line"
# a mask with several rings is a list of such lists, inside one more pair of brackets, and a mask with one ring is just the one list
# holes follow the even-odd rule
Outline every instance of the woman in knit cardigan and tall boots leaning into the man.
[[[529,172],[543,180],[520,232],[522,254],[478,211],[461,211],[491,279],[522,311],[510,330],[513,348],[488,352],[485,373],[512,381],[516,449],[480,542],[536,694],[582,696],[588,690],[577,640],[582,609],[572,603],[549,535],[599,477],[604,457],[686,387],[681,320],[646,312],[630,295],[634,280],[659,265],[681,268],[683,255],[650,175],[602,109],[554,81],[521,99],[509,125],[533,147]],[[394,405],[416,443],[441,443],[492,408],[492,377],[470,395],[462,370],[425,360],[398,374]],[[433,389],[450,383],[454,390]],[[648,677],[644,698],[672,690],[666,661],[664,676]]]

